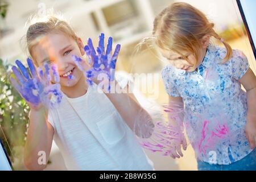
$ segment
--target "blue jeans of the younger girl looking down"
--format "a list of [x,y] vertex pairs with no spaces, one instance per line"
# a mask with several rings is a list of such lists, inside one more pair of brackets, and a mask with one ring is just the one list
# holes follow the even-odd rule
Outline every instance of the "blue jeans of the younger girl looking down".
[[199,171],[256,171],[256,149],[245,158],[229,165],[209,164],[197,160]]

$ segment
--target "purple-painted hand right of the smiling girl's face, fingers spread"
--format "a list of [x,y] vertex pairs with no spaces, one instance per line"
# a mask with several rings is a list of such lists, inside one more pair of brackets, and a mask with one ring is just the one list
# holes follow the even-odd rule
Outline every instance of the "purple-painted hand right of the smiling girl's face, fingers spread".
[[108,39],[108,45],[105,52],[104,47],[104,34],[101,33],[99,36],[99,43],[97,47],[97,53],[93,47],[92,39],[88,39],[88,45],[84,47],[86,55],[88,57],[88,63],[91,65],[91,68],[88,69],[85,66],[84,61],[80,57],[73,56],[73,59],[77,65],[77,67],[84,72],[85,76],[87,77],[87,82],[89,85],[93,84],[92,79],[97,78],[98,75],[101,73],[106,74],[108,77],[109,88],[110,90],[110,82],[115,80],[115,65],[117,63],[117,57],[120,51],[120,44],[117,44],[115,47],[115,51],[112,55],[112,37]]

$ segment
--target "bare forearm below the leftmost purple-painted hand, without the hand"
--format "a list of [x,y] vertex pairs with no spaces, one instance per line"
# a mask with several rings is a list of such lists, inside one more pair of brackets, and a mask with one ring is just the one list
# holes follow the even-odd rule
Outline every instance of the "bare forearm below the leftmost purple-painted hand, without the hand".
[[24,164],[30,170],[43,170],[49,159],[54,130],[47,121],[47,116],[48,111],[44,107],[31,108],[24,148]]

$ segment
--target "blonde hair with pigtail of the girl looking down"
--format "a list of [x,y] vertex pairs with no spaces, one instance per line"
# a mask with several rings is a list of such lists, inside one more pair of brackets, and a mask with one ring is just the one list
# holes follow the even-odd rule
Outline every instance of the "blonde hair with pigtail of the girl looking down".
[[166,7],[154,20],[153,36],[159,48],[194,53],[198,61],[202,51],[200,40],[205,35],[220,40],[226,47],[224,62],[232,57],[232,48],[213,29],[207,17],[188,3],[178,2]]

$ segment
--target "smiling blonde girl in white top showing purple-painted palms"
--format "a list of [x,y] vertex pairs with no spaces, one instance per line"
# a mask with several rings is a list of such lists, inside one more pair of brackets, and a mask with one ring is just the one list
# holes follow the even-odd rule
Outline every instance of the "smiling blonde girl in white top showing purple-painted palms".
[[[144,115],[152,124],[150,116],[133,94],[99,93],[97,80],[88,86],[83,71],[91,67],[84,59],[80,67],[73,60],[74,55],[82,58],[85,50],[68,23],[56,16],[46,16],[43,21],[31,24],[26,40],[32,59],[28,59],[31,74],[20,61],[16,63],[21,73],[13,67],[18,79],[13,80],[14,85],[31,107],[24,148],[25,166],[32,170],[44,169],[54,139],[69,170],[152,170],[152,163],[131,130],[138,115]],[[46,69],[38,73],[34,64]],[[48,64],[56,65],[55,79],[51,81],[52,84],[59,82],[63,92],[56,108],[46,107],[42,98],[36,104],[31,100],[38,85],[42,89],[46,85],[44,73],[49,73]],[[43,81],[44,84],[40,84]],[[43,154],[46,163],[39,163]]]

